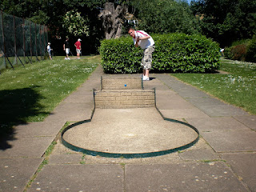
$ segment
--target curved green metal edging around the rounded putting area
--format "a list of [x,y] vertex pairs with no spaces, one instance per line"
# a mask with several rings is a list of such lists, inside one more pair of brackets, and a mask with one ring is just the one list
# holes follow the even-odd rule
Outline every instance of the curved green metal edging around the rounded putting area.
[[[156,107],[156,109],[158,110],[157,107]],[[138,153],[138,154],[115,154],[115,153],[106,153],[106,152],[101,152],[101,151],[96,151],[96,150],[86,150],[84,148],[74,146],[69,142],[66,142],[66,140],[63,138],[63,134],[65,134],[66,130],[70,130],[74,126],[78,126],[78,125],[81,125],[86,122],[91,122],[91,118],[90,118],[90,119],[84,120],[82,122],[76,122],[70,126],[67,126],[64,130],[62,130],[62,137],[61,137],[62,144],[64,146],[66,146],[67,148],[69,148],[70,150],[82,152],[83,154],[90,154],[92,156],[98,155],[98,156],[102,156],[102,157],[106,157],[106,158],[149,158],[149,157],[156,157],[156,156],[160,156],[160,155],[164,155],[164,154],[171,154],[171,153],[177,152],[178,150],[185,150],[185,149],[189,148],[190,146],[193,146],[196,142],[198,142],[199,131],[194,126],[191,126],[190,124],[188,124],[186,122],[178,121],[176,119],[165,118],[159,110],[158,110],[158,113],[160,113],[162,118],[166,121],[177,122],[177,123],[181,123],[182,125],[189,126],[191,129],[193,129],[198,134],[198,137],[196,139],[194,139],[193,142],[190,142],[190,143],[186,144],[185,146],[179,146],[179,147],[176,147],[176,148],[170,149],[170,150],[161,150],[161,151],[157,151],[157,152]]]

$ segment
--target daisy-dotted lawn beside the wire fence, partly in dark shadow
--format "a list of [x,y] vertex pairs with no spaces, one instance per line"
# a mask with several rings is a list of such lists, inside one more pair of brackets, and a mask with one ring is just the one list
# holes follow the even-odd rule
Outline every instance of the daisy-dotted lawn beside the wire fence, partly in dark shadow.
[[0,134],[12,126],[40,122],[62,99],[85,82],[100,64],[100,56],[54,60],[14,66],[0,75]]

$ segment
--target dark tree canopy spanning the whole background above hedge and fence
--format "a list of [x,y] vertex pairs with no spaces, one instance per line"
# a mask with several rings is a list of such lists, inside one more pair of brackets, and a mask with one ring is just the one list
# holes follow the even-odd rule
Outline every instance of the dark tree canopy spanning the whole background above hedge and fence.
[[[113,3],[116,12],[105,11],[111,17],[104,21],[98,15],[106,3]],[[255,0],[192,0],[190,5],[186,0],[2,0],[0,10],[48,26],[50,37],[86,38],[94,51],[99,40],[114,38],[113,30],[120,32],[129,18],[149,33],[202,33],[222,46],[256,33]]]

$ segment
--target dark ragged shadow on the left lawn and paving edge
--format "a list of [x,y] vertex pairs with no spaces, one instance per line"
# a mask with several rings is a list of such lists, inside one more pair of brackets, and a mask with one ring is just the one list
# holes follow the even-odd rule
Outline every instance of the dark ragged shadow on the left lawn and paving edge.
[[34,88],[0,90],[0,150],[11,148],[8,141],[14,140],[14,126],[26,124],[27,118],[42,114],[39,98]]

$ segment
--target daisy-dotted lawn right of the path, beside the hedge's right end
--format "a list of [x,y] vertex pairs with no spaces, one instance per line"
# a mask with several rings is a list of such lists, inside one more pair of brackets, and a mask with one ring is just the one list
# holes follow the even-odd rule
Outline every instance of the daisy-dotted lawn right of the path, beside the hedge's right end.
[[256,114],[256,63],[222,59],[228,74],[172,74],[224,102]]

